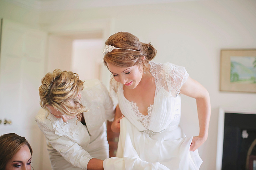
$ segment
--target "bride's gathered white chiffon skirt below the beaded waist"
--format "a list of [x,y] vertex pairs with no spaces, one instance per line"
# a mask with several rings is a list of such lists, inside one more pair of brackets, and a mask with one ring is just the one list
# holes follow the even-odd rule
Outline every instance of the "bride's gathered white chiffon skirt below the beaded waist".
[[120,126],[117,155],[103,161],[105,170],[198,170],[202,164],[198,151],[189,150],[192,137],[179,126],[151,137],[125,117]]

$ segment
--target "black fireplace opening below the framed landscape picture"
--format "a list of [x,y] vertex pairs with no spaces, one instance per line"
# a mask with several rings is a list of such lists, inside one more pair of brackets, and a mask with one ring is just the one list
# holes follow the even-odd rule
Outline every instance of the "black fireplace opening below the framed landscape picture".
[[256,170],[256,114],[225,113],[222,170]]

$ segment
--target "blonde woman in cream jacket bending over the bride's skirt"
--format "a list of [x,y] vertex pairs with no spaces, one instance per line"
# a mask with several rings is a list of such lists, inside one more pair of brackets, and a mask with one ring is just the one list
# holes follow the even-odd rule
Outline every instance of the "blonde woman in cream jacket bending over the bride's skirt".
[[42,78],[39,96],[42,109],[35,119],[47,139],[52,169],[102,170],[109,158],[105,120],[113,120],[115,108],[106,87],[56,69]]

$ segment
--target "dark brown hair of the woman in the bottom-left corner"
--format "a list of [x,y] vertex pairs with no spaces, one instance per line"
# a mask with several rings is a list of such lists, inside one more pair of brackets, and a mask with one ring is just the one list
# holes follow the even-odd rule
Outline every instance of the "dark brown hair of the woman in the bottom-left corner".
[[25,145],[29,147],[32,155],[32,148],[25,137],[15,133],[7,133],[0,136],[0,169],[5,169],[6,163]]

